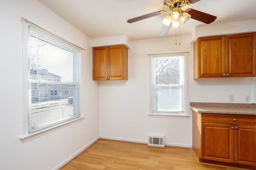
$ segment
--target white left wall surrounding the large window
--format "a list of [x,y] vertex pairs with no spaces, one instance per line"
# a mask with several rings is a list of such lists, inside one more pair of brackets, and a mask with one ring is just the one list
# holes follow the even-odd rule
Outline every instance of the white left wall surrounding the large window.
[[[22,129],[21,17],[86,49],[82,53],[82,114],[73,125],[31,141]],[[0,2],[0,166],[2,170],[57,169],[99,137],[99,87],[92,81],[90,39],[37,0]],[[96,128],[93,128],[96,123]]]

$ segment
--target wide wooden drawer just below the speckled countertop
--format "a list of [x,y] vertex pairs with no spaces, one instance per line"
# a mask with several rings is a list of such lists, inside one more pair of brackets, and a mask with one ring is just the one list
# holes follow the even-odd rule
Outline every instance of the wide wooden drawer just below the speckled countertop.
[[256,125],[256,116],[202,113],[202,123]]

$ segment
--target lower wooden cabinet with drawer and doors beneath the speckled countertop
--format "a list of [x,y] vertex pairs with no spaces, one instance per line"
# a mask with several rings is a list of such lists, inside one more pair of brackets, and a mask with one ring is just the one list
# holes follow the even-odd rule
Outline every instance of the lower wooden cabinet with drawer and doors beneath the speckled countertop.
[[256,169],[256,116],[193,111],[192,145],[200,162]]

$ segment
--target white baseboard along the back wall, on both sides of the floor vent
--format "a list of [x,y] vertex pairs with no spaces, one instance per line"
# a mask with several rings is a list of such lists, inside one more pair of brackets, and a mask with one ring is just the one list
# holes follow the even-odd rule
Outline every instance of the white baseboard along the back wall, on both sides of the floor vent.
[[[118,138],[118,137],[108,137],[108,136],[100,136],[100,139],[110,139],[110,140],[116,140],[116,141],[126,141],[126,142],[136,142],[136,143],[145,143],[148,144],[147,140],[138,140],[138,139],[128,139],[128,138]],[[192,148],[192,145],[186,145],[181,143],[164,143],[166,146],[172,146],[172,147],[184,147],[184,148]]]

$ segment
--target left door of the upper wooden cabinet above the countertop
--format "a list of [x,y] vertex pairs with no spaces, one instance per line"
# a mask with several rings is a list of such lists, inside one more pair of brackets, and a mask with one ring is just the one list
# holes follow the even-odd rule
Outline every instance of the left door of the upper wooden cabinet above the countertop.
[[194,65],[194,69],[198,71],[198,78],[224,77],[225,36],[198,38],[197,43],[197,47],[194,47],[194,51],[197,51],[194,64],[197,66]]

